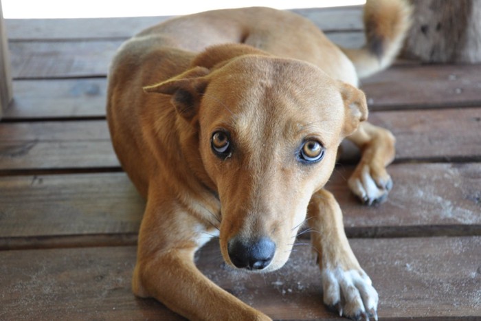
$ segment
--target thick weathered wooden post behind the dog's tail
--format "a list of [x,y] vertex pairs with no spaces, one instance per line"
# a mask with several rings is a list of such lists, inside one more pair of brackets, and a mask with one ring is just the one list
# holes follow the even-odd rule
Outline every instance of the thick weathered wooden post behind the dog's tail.
[[425,63],[481,63],[481,0],[412,0],[403,56]]

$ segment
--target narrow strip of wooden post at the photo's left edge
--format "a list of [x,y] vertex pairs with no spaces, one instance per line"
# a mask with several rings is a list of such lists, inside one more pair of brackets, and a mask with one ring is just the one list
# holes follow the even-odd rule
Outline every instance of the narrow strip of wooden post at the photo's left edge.
[[10,76],[10,57],[8,55],[7,34],[3,24],[3,11],[0,0],[0,119],[12,100],[12,78]]

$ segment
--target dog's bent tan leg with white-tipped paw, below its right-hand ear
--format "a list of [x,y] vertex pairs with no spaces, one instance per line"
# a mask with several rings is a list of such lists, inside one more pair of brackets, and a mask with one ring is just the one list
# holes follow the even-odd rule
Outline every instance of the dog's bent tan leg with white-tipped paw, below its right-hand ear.
[[384,201],[392,188],[392,179],[385,167],[394,159],[396,140],[390,131],[368,122],[347,137],[361,149],[361,161],[348,179],[350,190],[363,203]]

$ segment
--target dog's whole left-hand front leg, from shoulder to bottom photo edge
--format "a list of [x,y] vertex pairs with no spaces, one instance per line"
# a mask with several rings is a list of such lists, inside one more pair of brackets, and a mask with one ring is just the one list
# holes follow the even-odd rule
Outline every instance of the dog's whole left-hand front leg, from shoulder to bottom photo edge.
[[[150,190],[155,190],[152,188]],[[139,233],[133,291],[190,320],[271,320],[205,277],[194,253],[213,233],[178,201],[150,195]]]

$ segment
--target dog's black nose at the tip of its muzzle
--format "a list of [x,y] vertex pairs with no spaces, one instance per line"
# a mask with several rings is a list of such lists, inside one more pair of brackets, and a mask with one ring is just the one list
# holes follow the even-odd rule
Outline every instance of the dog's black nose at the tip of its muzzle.
[[267,237],[258,241],[241,241],[233,238],[227,243],[230,261],[243,269],[264,269],[276,253],[276,244]]

